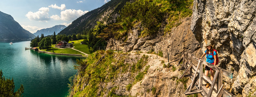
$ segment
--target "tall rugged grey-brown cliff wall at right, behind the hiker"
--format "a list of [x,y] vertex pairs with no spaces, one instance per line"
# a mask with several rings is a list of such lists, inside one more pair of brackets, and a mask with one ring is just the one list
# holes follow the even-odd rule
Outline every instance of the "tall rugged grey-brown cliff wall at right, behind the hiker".
[[206,50],[207,41],[219,54],[219,67],[234,73],[224,80],[233,94],[256,91],[256,1],[194,0],[191,30]]

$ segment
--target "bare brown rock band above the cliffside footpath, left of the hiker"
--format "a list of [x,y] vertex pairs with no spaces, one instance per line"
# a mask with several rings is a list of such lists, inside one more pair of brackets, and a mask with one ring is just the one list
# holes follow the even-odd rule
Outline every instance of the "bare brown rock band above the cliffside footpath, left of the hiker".
[[114,47],[114,50],[118,50],[119,47],[119,50],[123,52],[142,51],[144,53],[157,51],[162,52],[165,58],[168,57],[167,52],[169,52],[170,60],[179,58],[182,51],[200,56],[203,54],[201,46],[190,30],[191,17],[182,19],[180,22],[179,26],[172,28],[172,32],[164,35],[160,31],[158,36],[148,36],[146,38],[139,37],[143,27],[140,23],[137,23],[128,33],[126,40],[125,38],[122,40],[110,39],[107,49]]

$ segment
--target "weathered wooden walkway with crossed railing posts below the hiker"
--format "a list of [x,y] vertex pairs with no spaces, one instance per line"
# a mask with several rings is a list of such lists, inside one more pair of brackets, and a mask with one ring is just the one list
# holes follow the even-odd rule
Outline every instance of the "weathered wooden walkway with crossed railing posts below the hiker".
[[[191,95],[195,93],[201,93],[203,97],[236,97],[235,95],[229,93],[224,89],[223,86],[223,75],[228,78],[233,78],[233,73],[228,72],[220,67],[207,63],[203,60],[198,60],[192,54],[183,52],[179,62],[182,64],[179,68],[180,70],[185,70],[181,75],[180,79],[183,77],[190,77],[192,83],[188,86],[188,89],[185,91],[185,95]],[[197,64],[197,65],[195,65]],[[215,70],[213,80],[203,73],[203,65],[207,65]],[[209,82],[211,84],[210,89],[206,88],[203,84]]]

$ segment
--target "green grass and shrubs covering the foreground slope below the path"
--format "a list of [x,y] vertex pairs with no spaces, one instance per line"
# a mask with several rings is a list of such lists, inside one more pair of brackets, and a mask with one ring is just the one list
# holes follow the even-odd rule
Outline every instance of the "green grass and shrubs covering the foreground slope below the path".
[[[120,74],[131,73],[133,80],[130,86],[142,80],[144,74],[147,74],[149,66],[147,64],[147,55],[137,55],[137,62],[125,63],[126,58],[130,54],[112,53],[112,51],[97,51],[91,54],[87,59],[77,60],[75,68],[79,74],[75,76],[74,83],[70,84],[70,96],[74,97],[95,97],[95,96],[117,96],[113,93],[117,87],[113,87],[111,91],[103,88],[104,84],[115,82]],[[144,67],[145,66],[145,67]],[[82,81],[82,84],[79,84]],[[83,90],[81,90],[83,88]],[[100,91],[100,93],[98,93]]]

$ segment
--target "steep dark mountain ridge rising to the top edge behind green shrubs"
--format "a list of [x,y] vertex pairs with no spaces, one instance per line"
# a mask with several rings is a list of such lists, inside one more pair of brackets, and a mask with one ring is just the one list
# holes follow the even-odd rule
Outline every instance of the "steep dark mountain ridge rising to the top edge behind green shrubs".
[[104,21],[104,24],[115,23],[118,12],[129,0],[111,0],[103,6],[96,8],[73,21],[68,27],[62,30],[59,34],[78,34],[89,32],[97,23]]

